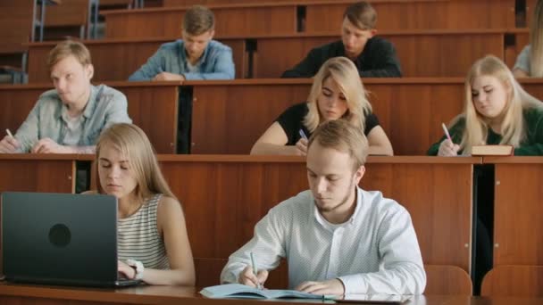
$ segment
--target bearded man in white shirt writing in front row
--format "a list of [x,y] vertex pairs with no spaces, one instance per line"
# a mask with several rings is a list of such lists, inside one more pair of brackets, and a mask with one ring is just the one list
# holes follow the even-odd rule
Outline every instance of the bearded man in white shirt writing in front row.
[[310,190],[256,224],[254,237],[230,255],[221,283],[265,286],[285,258],[289,288],[305,293],[422,293],[426,274],[409,213],[358,187],[367,153],[367,140],[347,121],[317,128],[307,144]]

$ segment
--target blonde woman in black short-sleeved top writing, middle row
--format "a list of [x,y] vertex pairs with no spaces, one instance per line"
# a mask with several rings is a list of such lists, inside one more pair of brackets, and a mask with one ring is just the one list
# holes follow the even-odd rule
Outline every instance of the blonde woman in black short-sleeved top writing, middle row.
[[347,120],[361,128],[370,154],[392,155],[392,145],[372,105],[355,64],[347,57],[330,58],[313,79],[306,103],[284,111],[256,141],[251,154],[298,154],[307,152],[307,138],[326,120]]

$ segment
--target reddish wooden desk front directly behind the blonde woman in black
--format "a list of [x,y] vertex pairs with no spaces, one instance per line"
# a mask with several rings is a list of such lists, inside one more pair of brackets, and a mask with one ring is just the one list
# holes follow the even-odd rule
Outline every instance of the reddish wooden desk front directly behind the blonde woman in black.
[[[422,155],[462,112],[461,78],[363,78],[394,152]],[[192,153],[248,154],[288,106],[307,99],[311,79],[186,82],[193,87]]]

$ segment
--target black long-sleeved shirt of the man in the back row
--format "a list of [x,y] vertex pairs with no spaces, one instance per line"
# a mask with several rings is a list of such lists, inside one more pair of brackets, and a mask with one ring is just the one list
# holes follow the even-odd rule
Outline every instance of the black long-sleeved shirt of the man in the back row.
[[[312,78],[321,69],[324,62],[337,56],[346,56],[345,47],[341,40],[313,48],[296,67],[283,72],[281,78]],[[360,77],[363,78],[399,78],[402,76],[394,45],[380,37],[368,39],[362,53],[354,62]]]

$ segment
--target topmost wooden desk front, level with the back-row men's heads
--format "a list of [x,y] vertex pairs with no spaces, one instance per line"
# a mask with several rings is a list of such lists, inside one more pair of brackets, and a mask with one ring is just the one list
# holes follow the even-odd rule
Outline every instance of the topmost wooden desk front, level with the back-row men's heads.
[[[294,34],[336,30],[352,1],[210,4],[218,36]],[[200,2],[199,4],[202,4]],[[515,27],[514,0],[372,1],[377,29],[504,29]],[[104,12],[105,37],[180,36],[189,6]],[[492,14],[479,12],[492,10]],[[134,30],[138,29],[138,30]]]

